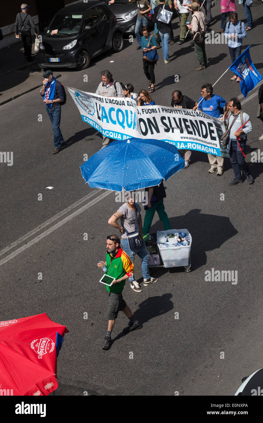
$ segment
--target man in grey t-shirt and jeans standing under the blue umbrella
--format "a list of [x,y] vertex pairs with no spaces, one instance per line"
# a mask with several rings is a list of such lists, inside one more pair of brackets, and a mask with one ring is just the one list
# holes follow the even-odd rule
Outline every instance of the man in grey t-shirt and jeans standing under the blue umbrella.
[[[134,192],[129,195],[128,201],[122,206],[119,207],[116,213],[114,213],[108,220],[108,224],[111,225],[115,229],[119,229],[120,233],[122,233],[122,250],[125,251],[127,255],[129,255],[131,261],[134,264],[134,255],[138,254],[141,258],[141,272],[144,277],[144,286],[149,285],[150,283],[157,282],[157,278],[150,277],[148,272],[148,265],[150,255],[146,248],[145,242],[143,241],[143,232],[142,232],[142,222],[141,222],[141,207],[138,203],[134,201]],[[136,221],[136,213],[137,213],[137,227],[135,227]],[[117,223],[117,220],[120,219],[120,225]],[[127,233],[139,231],[142,245],[141,247],[136,247],[133,250],[130,250]],[[133,291],[141,292],[141,287],[139,286],[138,282],[135,280],[134,275],[132,274],[129,277],[130,280],[130,287]]]

